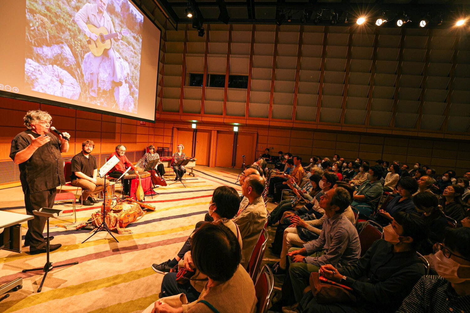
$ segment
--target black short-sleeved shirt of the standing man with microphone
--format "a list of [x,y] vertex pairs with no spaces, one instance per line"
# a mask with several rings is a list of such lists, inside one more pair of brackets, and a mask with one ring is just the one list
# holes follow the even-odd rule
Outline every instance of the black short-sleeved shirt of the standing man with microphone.
[[[15,160],[16,153],[31,144],[31,134],[35,138],[40,135],[32,130],[25,130],[11,141],[10,158]],[[20,181],[23,192],[36,193],[53,189],[65,184],[63,175],[63,160],[60,152],[61,143],[57,137],[50,135],[51,140],[40,146],[31,157],[19,164]]]

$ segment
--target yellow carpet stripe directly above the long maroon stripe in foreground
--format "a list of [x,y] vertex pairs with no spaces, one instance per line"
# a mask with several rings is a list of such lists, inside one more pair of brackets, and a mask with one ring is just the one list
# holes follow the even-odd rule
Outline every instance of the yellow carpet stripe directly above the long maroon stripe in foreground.
[[[187,225],[187,226],[181,226],[177,228],[172,228],[172,229],[165,229],[165,230],[158,230],[158,231],[151,231],[147,233],[141,233],[141,234],[129,234],[129,235],[117,235],[114,234],[114,237],[116,237],[120,242],[121,241],[126,241],[126,240],[132,240],[132,239],[139,239],[139,238],[147,238],[147,237],[154,237],[154,236],[161,236],[161,235],[167,235],[171,233],[177,233],[180,231],[184,230],[189,230],[189,229],[194,229],[196,225]],[[108,235],[109,236],[109,235]],[[109,236],[109,238],[111,238]],[[103,238],[103,239],[98,239],[94,241],[87,241],[84,244],[69,244],[69,245],[63,245],[60,249],[55,250],[52,253],[56,252],[65,252],[65,251],[71,251],[71,250],[76,250],[76,249],[81,249],[81,248],[87,248],[95,245],[100,245],[100,244],[110,244],[112,243],[112,238]],[[110,241],[111,240],[111,241]],[[26,254],[26,253],[21,253],[21,254],[12,254],[4,258],[0,258],[0,263],[5,263],[5,262],[11,262],[15,260],[20,260],[20,259],[25,259],[32,257],[32,255]]]

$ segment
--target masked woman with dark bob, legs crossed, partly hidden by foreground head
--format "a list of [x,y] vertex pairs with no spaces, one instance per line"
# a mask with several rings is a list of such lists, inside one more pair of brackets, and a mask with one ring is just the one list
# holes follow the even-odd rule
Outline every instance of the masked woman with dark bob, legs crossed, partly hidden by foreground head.
[[[240,208],[240,198],[238,192],[228,186],[220,186],[214,190],[211,203],[209,204],[209,215],[214,219],[212,223],[222,223],[228,227],[237,237],[240,247],[242,246],[242,237],[238,226],[232,221],[238,209]],[[186,267],[191,258],[191,241],[194,233],[201,225],[208,222],[199,222],[191,236],[188,237],[180,252],[172,260],[165,261],[161,264],[153,264],[152,269],[160,274],[166,274],[162,282],[162,296],[172,296],[181,292],[185,293],[189,301],[194,301],[204,288],[204,281],[191,281],[191,284],[178,284],[176,282],[176,273],[170,273],[170,270],[177,264],[180,267]],[[184,263],[184,264],[183,264]],[[168,274],[167,274],[168,273]]]

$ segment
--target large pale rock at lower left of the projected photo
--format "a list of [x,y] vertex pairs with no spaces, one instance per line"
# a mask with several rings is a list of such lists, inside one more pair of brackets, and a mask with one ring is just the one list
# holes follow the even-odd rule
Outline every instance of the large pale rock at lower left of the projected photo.
[[26,59],[24,76],[31,90],[44,92],[59,97],[77,100],[80,86],[66,70],[56,65],[42,65]]

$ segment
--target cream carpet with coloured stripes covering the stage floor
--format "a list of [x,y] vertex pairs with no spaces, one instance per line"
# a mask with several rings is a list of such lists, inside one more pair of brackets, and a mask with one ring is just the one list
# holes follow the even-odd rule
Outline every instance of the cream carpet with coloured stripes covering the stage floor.
[[[119,243],[107,233],[99,232],[81,244],[89,231],[51,229],[50,235],[55,236],[53,243],[62,244],[50,254],[54,265],[73,261],[79,264],[49,272],[40,293],[36,290],[42,270],[21,271],[44,266],[46,254],[0,251],[0,285],[23,277],[23,289],[11,292],[9,298],[0,302],[0,312],[128,313],[143,310],[158,298],[163,277],[150,268],[151,264],[174,257],[196,222],[204,219],[215,188],[228,185],[241,191],[235,184],[238,170],[198,166],[194,172],[196,177],[187,176],[187,188],[175,183],[158,188],[159,195],[153,199],[146,198],[157,209],[131,224],[128,229],[132,229],[132,234],[113,232]],[[21,197],[21,189],[18,197]],[[8,211],[25,213],[18,198],[1,205]],[[86,221],[97,209],[98,206],[78,208],[78,221]],[[70,207],[66,210],[71,211]],[[63,221],[51,220],[51,226],[58,223]],[[25,232],[26,229],[23,234]]]

